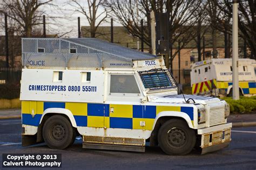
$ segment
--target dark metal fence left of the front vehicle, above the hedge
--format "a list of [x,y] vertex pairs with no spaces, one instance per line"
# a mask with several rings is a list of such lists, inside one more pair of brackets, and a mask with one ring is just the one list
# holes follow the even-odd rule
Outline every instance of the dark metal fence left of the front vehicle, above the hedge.
[[21,74],[22,74],[21,68],[0,67],[0,84],[20,83]]

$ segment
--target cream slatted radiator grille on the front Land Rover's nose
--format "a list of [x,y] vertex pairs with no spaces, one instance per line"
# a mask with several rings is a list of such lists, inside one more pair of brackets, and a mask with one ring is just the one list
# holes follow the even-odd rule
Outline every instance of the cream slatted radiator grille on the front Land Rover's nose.
[[225,123],[225,107],[210,108],[210,126]]

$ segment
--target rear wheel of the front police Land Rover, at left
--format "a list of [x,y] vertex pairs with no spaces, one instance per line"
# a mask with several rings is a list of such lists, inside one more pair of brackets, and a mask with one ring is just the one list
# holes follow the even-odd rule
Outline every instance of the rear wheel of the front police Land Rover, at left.
[[43,126],[43,138],[50,148],[64,149],[72,145],[74,132],[69,120],[61,115],[51,116]]

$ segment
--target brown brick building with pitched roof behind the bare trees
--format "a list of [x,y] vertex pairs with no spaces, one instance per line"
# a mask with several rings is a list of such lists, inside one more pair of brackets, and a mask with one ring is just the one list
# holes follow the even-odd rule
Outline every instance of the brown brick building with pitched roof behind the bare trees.
[[[110,42],[111,33],[110,26],[99,26],[96,32],[96,38],[103,39]],[[90,37],[90,26],[82,26],[82,37]],[[211,30],[207,31],[204,35],[205,37],[205,59],[212,57],[212,34]],[[230,36],[232,40],[232,36]],[[129,34],[127,29],[123,26],[113,26],[113,41],[116,44],[133,48],[140,49],[140,40],[134,38]],[[177,43],[173,44],[173,53],[176,51],[178,47]],[[230,42],[230,47],[232,48],[232,42]],[[244,40],[239,39],[239,57],[244,58]],[[232,50],[232,49],[231,49]],[[144,44],[144,51],[149,51],[149,46]],[[224,58],[225,56],[225,48],[224,48],[224,34],[222,32],[217,31],[217,51],[218,58]],[[203,53],[203,40],[201,41],[201,53]],[[232,52],[230,52],[232,55]],[[198,61],[198,52],[197,52],[197,44],[196,41],[191,40],[186,44],[186,46],[180,51],[180,65],[181,69],[190,69],[191,58],[194,58],[194,61]],[[201,55],[201,59],[203,60],[203,54]],[[178,55],[173,60],[173,69],[178,69]]]

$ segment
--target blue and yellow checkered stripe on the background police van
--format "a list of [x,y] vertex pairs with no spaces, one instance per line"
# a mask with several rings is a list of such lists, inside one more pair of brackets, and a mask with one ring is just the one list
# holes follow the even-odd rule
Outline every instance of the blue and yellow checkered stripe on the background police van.
[[[218,82],[218,88],[227,91],[228,86],[232,84],[232,82]],[[256,94],[256,82],[239,82],[239,87],[242,88],[244,94]]]

